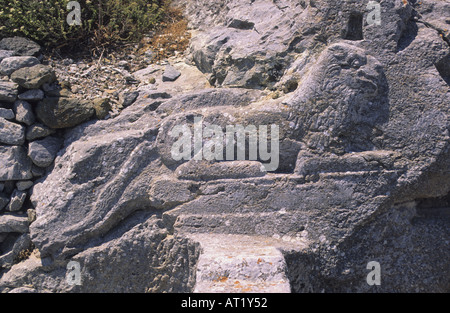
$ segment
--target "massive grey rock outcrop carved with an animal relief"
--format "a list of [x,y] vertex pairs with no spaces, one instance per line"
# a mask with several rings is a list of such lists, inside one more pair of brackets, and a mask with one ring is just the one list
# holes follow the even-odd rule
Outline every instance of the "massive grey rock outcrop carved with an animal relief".
[[[364,2],[184,4],[203,79],[177,65],[179,79],[141,88],[116,118],[67,131],[32,190],[40,255],[0,290],[228,292],[247,275],[248,291],[448,292],[448,4],[383,1],[380,26]],[[279,126],[280,167],[174,160],[173,127],[196,118]],[[82,286],[64,281],[70,260]],[[381,286],[367,284],[371,261]]]

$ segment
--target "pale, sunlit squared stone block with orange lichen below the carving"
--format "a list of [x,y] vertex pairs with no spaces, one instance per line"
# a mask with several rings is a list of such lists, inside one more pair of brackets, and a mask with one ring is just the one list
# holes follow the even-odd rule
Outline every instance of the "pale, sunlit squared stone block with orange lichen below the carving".
[[[193,236],[202,254],[197,293],[289,293],[286,261],[267,238],[236,235]],[[280,245],[280,243],[278,243]]]

